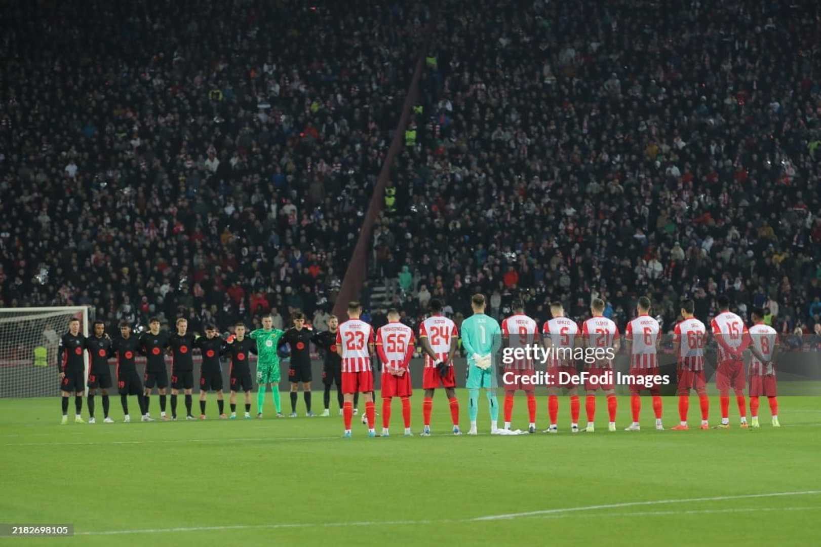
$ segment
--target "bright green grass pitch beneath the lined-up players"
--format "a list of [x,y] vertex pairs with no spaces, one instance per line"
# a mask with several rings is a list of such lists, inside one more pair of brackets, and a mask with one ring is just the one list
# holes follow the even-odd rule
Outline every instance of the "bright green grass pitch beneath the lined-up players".
[[[464,390],[460,401],[466,430]],[[287,407],[287,393],[282,402]],[[413,438],[401,436],[397,401],[390,439],[368,439],[357,416],[354,439],[344,440],[337,411],[301,417],[301,397],[296,419],[269,411],[263,421],[218,421],[212,400],[208,421],[150,424],[123,424],[119,399],[112,398],[111,425],[58,425],[59,398],[2,399],[0,522],[73,523],[77,536],[0,545],[658,547],[818,540],[819,398],[781,398],[780,430],[770,426],[763,398],[760,430],[738,428],[733,399],[731,430],[687,432],[655,431],[645,398],[639,433],[623,431],[627,398],[619,401],[619,430],[608,432],[599,398],[594,434],[569,432],[569,402],[562,398],[560,434],[491,437],[483,395],[477,438],[450,434],[444,393],[434,399],[433,436],[419,437],[421,402],[417,391]],[[156,397],[152,407],[156,416]],[[540,428],[546,407],[540,397]],[[97,409],[100,420],[99,398]],[[697,412],[692,398],[691,427]],[[713,424],[717,414],[713,398]],[[676,398],[665,398],[664,416],[667,427],[677,424]],[[526,421],[525,398],[517,397],[514,426]],[[782,495],[717,499],[750,494]],[[540,513],[474,520],[532,512]]]

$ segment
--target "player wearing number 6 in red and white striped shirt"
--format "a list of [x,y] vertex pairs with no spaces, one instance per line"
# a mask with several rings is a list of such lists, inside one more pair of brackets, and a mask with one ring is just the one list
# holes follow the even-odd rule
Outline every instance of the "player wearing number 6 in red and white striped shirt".
[[656,383],[658,376],[657,347],[660,340],[661,326],[658,321],[650,317],[650,299],[641,296],[635,306],[639,316],[630,321],[624,329],[624,338],[630,348],[630,407],[633,414],[633,423],[626,431],[638,431],[639,416],[641,413],[641,396],[643,389],[647,389],[653,396],[653,412],[656,416],[656,429],[664,429],[662,425],[662,397],[661,389]]

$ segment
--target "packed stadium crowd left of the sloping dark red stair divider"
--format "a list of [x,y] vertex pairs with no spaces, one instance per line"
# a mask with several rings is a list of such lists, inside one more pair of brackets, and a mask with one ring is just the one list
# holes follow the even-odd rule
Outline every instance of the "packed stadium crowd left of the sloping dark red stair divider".
[[412,2],[22,2],[0,306],[221,329],[328,307],[429,19]]

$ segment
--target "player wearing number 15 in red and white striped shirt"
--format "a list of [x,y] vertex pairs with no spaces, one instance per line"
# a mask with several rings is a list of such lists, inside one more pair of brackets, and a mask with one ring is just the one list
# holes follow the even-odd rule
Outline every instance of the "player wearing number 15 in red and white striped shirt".
[[741,354],[750,345],[750,333],[741,317],[730,311],[730,299],[721,295],[716,299],[718,315],[710,326],[718,342],[718,368],[716,387],[721,402],[721,424],[716,427],[726,430],[730,427],[730,388],[736,392],[741,427],[747,427],[746,402],[744,400],[744,361]]

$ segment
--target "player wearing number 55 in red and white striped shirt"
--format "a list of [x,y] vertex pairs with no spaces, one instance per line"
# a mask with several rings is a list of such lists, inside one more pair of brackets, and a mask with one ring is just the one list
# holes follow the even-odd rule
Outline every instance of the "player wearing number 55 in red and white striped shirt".
[[388,310],[388,324],[376,331],[376,354],[382,361],[382,436],[388,437],[391,423],[391,401],[398,397],[402,402],[402,419],[405,435],[410,433],[410,384],[408,363],[413,356],[413,329],[399,322],[399,311]]

